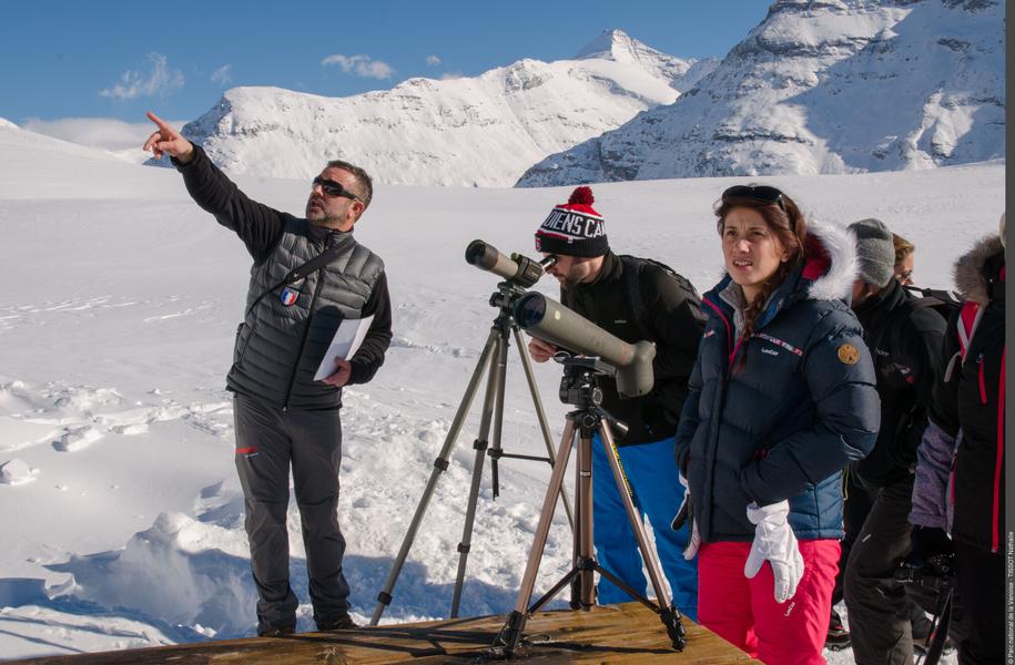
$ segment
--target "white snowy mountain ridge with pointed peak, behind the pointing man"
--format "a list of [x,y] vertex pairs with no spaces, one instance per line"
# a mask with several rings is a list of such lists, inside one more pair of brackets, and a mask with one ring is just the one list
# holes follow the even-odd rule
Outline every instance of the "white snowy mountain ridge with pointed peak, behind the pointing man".
[[611,30],[574,60],[348,98],[235,88],[183,133],[234,174],[309,177],[341,157],[386,184],[510,186],[546,155],[673,102],[710,66]]

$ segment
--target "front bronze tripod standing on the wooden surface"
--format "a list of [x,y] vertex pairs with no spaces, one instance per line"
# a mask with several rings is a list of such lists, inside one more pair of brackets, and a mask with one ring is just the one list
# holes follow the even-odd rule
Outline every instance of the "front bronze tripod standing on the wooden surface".
[[[667,592],[662,583],[659,561],[656,557],[656,552],[649,545],[641,518],[635,509],[627,477],[623,473],[620,457],[613,443],[613,436],[610,432],[610,426],[621,432],[627,431],[627,427],[600,406],[602,391],[598,387],[598,377],[613,374],[615,370],[595,358],[565,358],[562,362],[565,375],[560,381],[560,399],[566,403],[578,407],[578,409],[567,415],[564,436],[560,439],[560,448],[557,450],[557,463],[554,464],[554,472],[550,475],[550,483],[542,503],[539,525],[536,528],[536,539],[532,543],[532,550],[529,552],[525,575],[521,579],[518,602],[490,647],[490,655],[498,658],[511,657],[522,641],[525,624],[529,615],[552,600],[568,584],[571,585],[571,610],[591,610],[595,605],[595,580],[592,573],[599,573],[658,614],[673,648],[683,651],[686,638],[680,611],[670,600],[669,592]],[[638,549],[641,551],[646,569],[648,569],[652,589],[656,591],[657,603],[652,603],[641,596],[630,585],[603,569],[596,561],[592,546],[592,436],[595,433],[599,434],[602,444],[606,447],[610,469],[613,472],[613,480],[620,490],[628,522],[630,522],[631,530],[635,532]],[[546,539],[554,518],[557,495],[564,488],[564,473],[567,469],[568,457],[576,436],[579,437],[579,441],[577,480],[575,483],[575,505],[577,509],[575,524],[577,529],[575,530],[574,565],[569,573],[530,606],[529,601],[532,597],[536,574],[539,572],[539,562],[546,548]]]

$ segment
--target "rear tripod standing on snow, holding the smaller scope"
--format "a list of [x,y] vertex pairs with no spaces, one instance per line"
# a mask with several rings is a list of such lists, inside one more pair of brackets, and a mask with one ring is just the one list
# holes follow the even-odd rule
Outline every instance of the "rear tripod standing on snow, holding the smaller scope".
[[[500,494],[498,461],[501,458],[549,462],[549,464],[556,469],[554,447],[550,441],[550,428],[542,409],[542,402],[539,399],[539,389],[536,386],[536,379],[532,375],[532,366],[529,361],[526,347],[521,342],[521,334],[518,331],[518,324],[515,321],[512,315],[515,303],[524,296],[526,291],[521,286],[510,279],[498,284],[497,289],[498,290],[490,296],[490,306],[498,307],[499,314],[497,318],[494,319],[494,325],[490,328],[486,346],[483,349],[483,354],[479,356],[479,361],[476,364],[476,369],[473,371],[473,378],[469,379],[465,395],[461,397],[458,411],[455,413],[455,419],[451,421],[451,428],[447,433],[447,438],[444,440],[444,447],[440,449],[437,459],[434,460],[434,470],[430,472],[430,478],[426,483],[423,498],[419,499],[419,503],[416,505],[416,513],[413,515],[409,529],[405,534],[405,539],[402,541],[402,548],[398,550],[395,563],[392,565],[387,581],[384,583],[384,591],[377,594],[377,605],[374,607],[374,614],[371,617],[372,626],[377,625],[377,622],[380,621],[380,615],[384,613],[384,608],[392,603],[392,592],[395,589],[395,583],[398,580],[398,575],[402,573],[402,567],[405,564],[406,556],[408,556],[409,549],[413,546],[413,541],[416,538],[419,523],[423,521],[430,497],[436,489],[437,479],[448,469],[448,459],[451,453],[451,448],[455,446],[455,441],[461,432],[461,426],[469,411],[469,407],[473,403],[473,399],[476,396],[479,380],[483,377],[484,371],[488,371],[486,395],[484,396],[483,401],[483,416],[479,423],[478,437],[473,442],[473,448],[476,450],[476,457],[473,462],[473,479],[471,485],[469,487],[468,504],[466,507],[465,526],[461,534],[461,541],[458,543],[458,573],[455,577],[455,592],[451,598],[451,618],[458,616],[458,605],[461,601],[461,585],[465,580],[466,562],[471,546],[473,524],[476,518],[476,501],[479,495],[479,483],[483,479],[484,459],[487,456],[490,458],[495,499]],[[525,378],[528,381],[529,393],[531,395],[532,403],[536,407],[536,417],[539,420],[539,428],[542,430],[542,438],[546,442],[547,450],[547,457],[545,458],[507,453],[500,448],[507,356],[511,336],[514,336],[515,342],[518,345],[518,351],[521,355],[521,366],[525,369]],[[493,446],[487,438],[491,428]],[[565,463],[567,463],[567,459],[565,459]],[[574,528],[575,522],[571,514],[571,504],[568,501],[567,493],[564,491],[564,488],[558,488],[555,495],[557,493],[564,499],[568,522]]]

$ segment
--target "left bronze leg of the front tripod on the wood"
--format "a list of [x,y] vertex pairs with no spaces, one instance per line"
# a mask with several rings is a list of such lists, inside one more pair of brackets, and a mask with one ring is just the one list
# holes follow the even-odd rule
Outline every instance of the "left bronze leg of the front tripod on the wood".
[[554,472],[550,474],[550,482],[542,500],[542,512],[539,515],[539,524],[536,526],[536,538],[532,541],[532,549],[529,551],[529,561],[521,577],[518,601],[490,648],[495,655],[510,656],[521,641],[528,617],[529,601],[532,598],[532,590],[536,586],[536,574],[539,572],[542,552],[546,550],[546,539],[550,532],[550,523],[554,521],[557,495],[560,493],[560,488],[564,487],[564,472],[567,469],[574,440],[575,419],[568,416],[564,434],[560,437],[560,448],[557,449],[557,463],[554,464]]

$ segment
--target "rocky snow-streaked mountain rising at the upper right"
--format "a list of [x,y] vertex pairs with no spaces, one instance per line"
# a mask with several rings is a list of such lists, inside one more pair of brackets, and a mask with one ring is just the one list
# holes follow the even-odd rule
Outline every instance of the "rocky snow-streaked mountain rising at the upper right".
[[779,0],[673,104],[519,186],[928,168],[1004,156],[998,0]]

